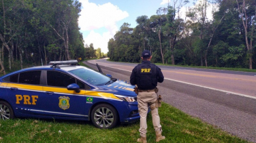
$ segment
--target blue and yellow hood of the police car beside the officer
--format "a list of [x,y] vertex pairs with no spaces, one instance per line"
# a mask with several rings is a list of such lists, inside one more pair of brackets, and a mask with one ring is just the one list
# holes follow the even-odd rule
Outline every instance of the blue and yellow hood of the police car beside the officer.
[[119,79],[114,83],[99,86],[99,90],[122,96],[137,96],[133,91],[134,87],[135,85],[131,85],[129,81],[122,81]]

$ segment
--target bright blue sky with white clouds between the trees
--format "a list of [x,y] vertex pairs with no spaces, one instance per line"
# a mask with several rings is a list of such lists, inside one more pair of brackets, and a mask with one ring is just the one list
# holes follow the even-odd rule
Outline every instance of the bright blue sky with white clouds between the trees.
[[[93,43],[94,49],[101,48],[101,52],[108,52],[108,41],[114,38],[116,31],[123,23],[137,26],[138,16],[156,15],[159,7],[167,7],[168,0],[79,0],[82,11],[78,25],[84,38],[84,45]],[[169,0],[170,5],[173,1]],[[193,6],[192,3],[185,7]],[[185,11],[185,7],[182,7]],[[185,17],[185,12],[181,13]]]

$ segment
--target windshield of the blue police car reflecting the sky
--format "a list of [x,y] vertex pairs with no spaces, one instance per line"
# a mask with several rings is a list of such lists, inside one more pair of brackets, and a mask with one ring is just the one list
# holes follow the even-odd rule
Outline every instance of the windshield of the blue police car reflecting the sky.
[[75,70],[69,70],[69,72],[93,85],[105,85],[111,81],[110,77],[102,75],[101,73],[97,73],[94,70],[88,68],[78,68]]

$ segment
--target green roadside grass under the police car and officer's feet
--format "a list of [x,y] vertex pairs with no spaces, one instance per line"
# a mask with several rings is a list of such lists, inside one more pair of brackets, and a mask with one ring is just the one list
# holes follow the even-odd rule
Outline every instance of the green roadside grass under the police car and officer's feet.
[[[246,142],[186,115],[169,104],[162,104],[159,115],[165,136],[161,142]],[[147,119],[147,140],[155,142],[150,113]],[[0,142],[136,142],[139,128],[139,121],[118,125],[114,129],[98,129],[90,121],[0,120]]]

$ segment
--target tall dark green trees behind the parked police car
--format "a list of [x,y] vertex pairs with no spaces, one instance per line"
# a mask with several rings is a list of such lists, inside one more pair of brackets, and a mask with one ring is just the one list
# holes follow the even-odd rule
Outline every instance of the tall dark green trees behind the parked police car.
[[81,3],[71,0],[0,0],[0,73],[25,64],[97,58],[78,26]]

